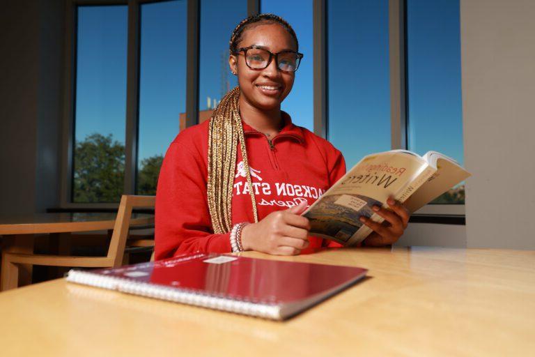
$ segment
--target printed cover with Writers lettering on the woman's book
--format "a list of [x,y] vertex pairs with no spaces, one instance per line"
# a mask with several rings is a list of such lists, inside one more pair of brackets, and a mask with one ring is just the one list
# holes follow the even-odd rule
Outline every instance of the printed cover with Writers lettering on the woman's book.
[[310,220],[311,234],[343,245],[359,243],[371,233],[359,218],[382,222],[372,206],[387,206],[389,196],[405,192],[427,167],[426,160],[411,153],[366,156],[303,214]]

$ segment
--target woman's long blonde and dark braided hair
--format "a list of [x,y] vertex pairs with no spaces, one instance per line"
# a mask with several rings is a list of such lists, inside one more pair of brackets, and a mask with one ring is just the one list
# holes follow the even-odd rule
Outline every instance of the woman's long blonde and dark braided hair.
[[[277,23],[294,38],[297,36],[288,22],[277,15],[261,14],[247,17],[234,29],[230,52],[234,54],[246,27],[256,22]],[[232,229],[232,191],[236,167],[238,144],[242,153],[247,188],[251,196],[254,222],[258,222],[258,211],[254,197],[245,136],[240,117],[240,88],[237,86],[219,102],[208,127],[208,210],[214,233],[226,233]]]

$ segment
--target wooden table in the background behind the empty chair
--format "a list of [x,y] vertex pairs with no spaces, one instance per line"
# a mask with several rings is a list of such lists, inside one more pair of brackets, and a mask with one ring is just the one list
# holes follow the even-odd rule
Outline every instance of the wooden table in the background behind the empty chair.
[[[0,217],[0,243],[2,253],[33,253],[35,234],[59,234],[77,231],[100,231],[113,229],[116,213],[38,213]],[[130,225],[151,225],[154,216],[132,215]],[[31,266],[20,269],[21,284],[31,282]]]

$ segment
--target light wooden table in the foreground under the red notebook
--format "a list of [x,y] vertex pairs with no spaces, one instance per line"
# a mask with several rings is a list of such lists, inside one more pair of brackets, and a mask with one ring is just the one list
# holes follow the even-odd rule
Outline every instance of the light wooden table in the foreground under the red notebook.
[[369,278],[285,322],[65,280],[0,294],[3,356],[528,356],[535,252],[394,248],[249,257],[362,266]]

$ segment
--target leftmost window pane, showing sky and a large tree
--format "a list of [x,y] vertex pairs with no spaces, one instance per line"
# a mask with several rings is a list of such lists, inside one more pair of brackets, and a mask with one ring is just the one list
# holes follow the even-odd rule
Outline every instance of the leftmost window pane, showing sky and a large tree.
[[77,8],[73,202],[117,202],[125,174],[127,6]]

